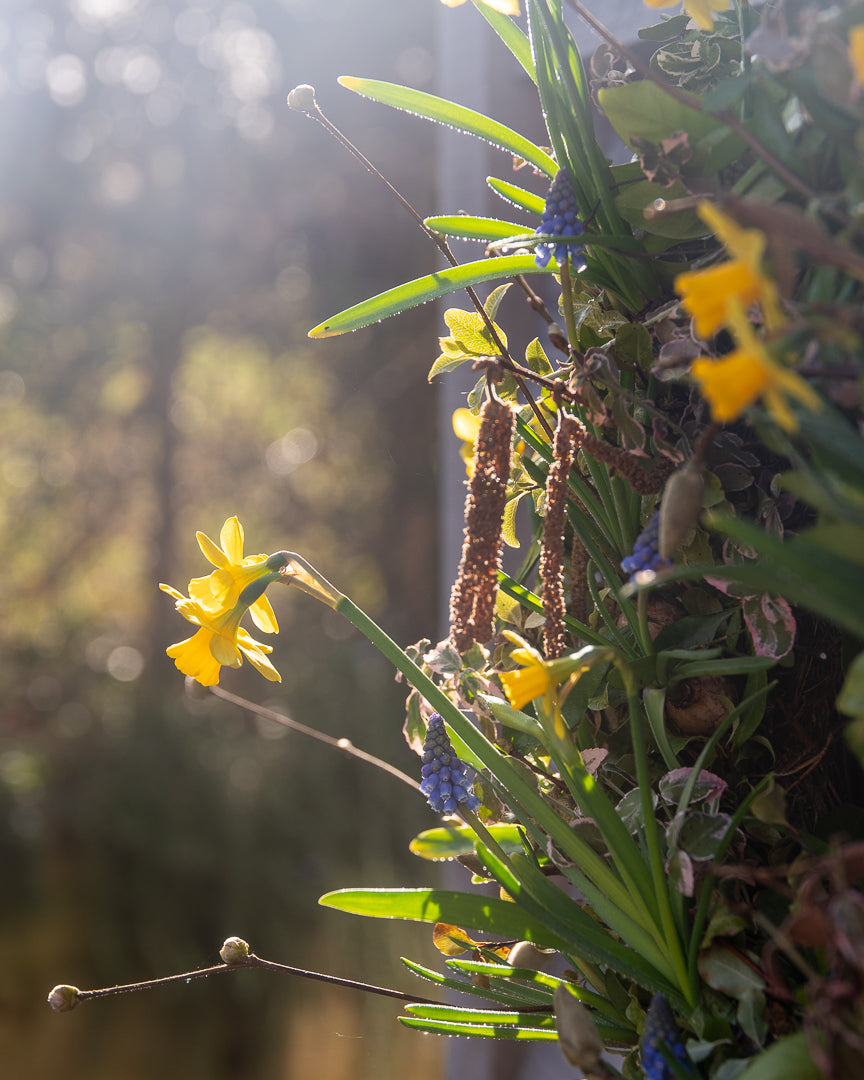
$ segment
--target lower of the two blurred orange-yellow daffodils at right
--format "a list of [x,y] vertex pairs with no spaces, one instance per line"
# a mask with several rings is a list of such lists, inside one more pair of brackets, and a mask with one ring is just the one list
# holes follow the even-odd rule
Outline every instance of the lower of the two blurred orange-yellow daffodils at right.
[[788,399],[794,397],[815,411],[822,408],[819,395],[797,372],[771,359],[740,303],[730,306],[728,322],[738,349],[720,360],[702,356],[690,367],[690,374],[711,406],[712,417],[718,423],[737,420],[744,409],[761,397],[765,407],[784,431],[797,431],[798,421],[789,408]]

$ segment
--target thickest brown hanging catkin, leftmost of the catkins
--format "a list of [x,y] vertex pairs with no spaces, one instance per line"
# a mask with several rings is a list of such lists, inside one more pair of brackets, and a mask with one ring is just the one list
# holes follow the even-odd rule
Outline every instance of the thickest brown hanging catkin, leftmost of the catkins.
[[495,634],[495,598],[501,565],[501,525],[510,476],[515,416],[498,401],[481,413],[474,464],[465,499],[459,573],[450,594],[450,639],[459,652]]

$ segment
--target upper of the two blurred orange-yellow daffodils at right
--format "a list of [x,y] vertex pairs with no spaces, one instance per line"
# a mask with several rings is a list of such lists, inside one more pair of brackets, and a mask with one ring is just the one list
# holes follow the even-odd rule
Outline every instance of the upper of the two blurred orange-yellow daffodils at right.
[[699,216],[732,258],[706,270],[679,273],[675,279],[675,292],[685,311],[693,316],[697,334],[703,338],[716,334],[727,322],[731,301],[744,308],[758,302],[769,329],[782,326],[784,319],[778,287],[762,272],[765,233],[758,229],[742,229],[712,203],[702,203]]

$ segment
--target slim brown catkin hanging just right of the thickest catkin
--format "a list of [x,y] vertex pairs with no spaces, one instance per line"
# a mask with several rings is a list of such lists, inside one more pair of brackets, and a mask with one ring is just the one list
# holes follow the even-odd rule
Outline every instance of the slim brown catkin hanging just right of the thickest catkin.
[[562,416],[552,444],[552,464],[546,476],[546,513],[540,549],[540,578],[543,582],[543,646],[546,660],[556,660],[567,649],[564,627],[564,527],[567,514],[567,476],[573,463],[581,426]]

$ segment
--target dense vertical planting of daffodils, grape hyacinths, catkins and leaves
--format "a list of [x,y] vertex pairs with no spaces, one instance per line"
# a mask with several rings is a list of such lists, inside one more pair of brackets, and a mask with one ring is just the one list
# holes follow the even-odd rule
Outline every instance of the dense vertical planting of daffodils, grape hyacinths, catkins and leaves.
[[[423,216],[393,191],[445,265],[310,330],[454,296],[429,372],[476,379],[454,417],[468,495],[449,635],[400,648],[301,554],[244,556],[231,517],[219,543],[198,535],[207,576],[161,586],[194,627],[167,654],[214,691],[244,658],[279,680],[241,621],[275,633],[267,589],[287,584],[400,673],[420,761],[399,775],[438,815],[410,848],[431,878],[458,860],[464,888],[321,903],[432,924],[442,969],[405,961],[424,996],[364,987],[405,999],[403,1024],[557,1040],[602,1080],[859,1080],[864,4],[685,0],[639,31],[646,59],[578,0],[473,2],[535,85],[548,145],[340,79],[503,151],[487,178],[502,216]],[[600,42],[588,62],[575,17]],[[288,104],[376,172],[311,86]],[[537,323],[524,355],[501,318],[514,297]],[[50,1003],[293,970],[240,939],[221,960]]]

